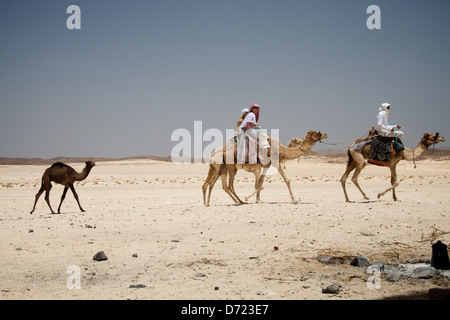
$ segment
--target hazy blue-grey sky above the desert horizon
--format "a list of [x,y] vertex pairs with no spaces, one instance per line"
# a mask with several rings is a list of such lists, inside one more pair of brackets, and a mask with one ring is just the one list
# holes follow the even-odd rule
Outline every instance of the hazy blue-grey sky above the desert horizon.
[[225,135],[253,103],[284,144],[359,138],[383,102],[450,139],[449,35],[448,0],[3,0],[0,156],[167,156],[174,130]]

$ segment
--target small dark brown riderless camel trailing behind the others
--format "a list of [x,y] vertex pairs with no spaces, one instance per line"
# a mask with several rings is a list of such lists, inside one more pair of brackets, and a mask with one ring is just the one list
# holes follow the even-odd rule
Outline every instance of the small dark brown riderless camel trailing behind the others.
[[45,191],[45,201],[47,201],[47,204],[51,210],[51,212],[54,214],[55,212],[52,209],[52,206],[50,205],[50,189],[52,188],[52,181],[58,184],[62,184],[64,186],[64,191],[61,196],[61,202],[59,203],[58,207],[58,213],[61,213],[61,204],[66,197],[67,190],[70,188],[72,190],[72,193],[77,200],[78,206],[80,207],[80,210],[82,212],[85,212],[85,210],[81,207],[80,201],[78,199],[78,194],[75,191],[75,187],[73,186],[75,181],[82,181],[86,179],[86,177],[89,175],[89,172],[91,171],[92,167],[95,166],[95,163],[93,161],[86,161],[86,166],[84,167],[83,171],[81,173],[76,172],[72,167],[62,163],[62,162],[55,162],[50,168],[47,168],[42,175],[42,182],[41,182],[41,188],[39,189],[38,193],[36,194],[36,199],[34,201],[33,210],[31,210],[30,214],[32,214],[36,208],[36,203],[39,200],[39,197],[41,194]]

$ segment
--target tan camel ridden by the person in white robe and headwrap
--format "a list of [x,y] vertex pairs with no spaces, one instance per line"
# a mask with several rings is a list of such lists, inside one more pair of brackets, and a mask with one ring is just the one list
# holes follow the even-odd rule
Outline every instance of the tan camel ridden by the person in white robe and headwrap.
[[[408,160],[408,161],[414,161],[415,158],[420,157],[425,150],[428,149],[429,146],[444,142],[444,137],[440,136],[439,133],[432,134],[432,133],[425,133],[422,137],[422,140],[419,142],[416,148],[409,149],[405,148],[405,150],[397,152],[395,154],[391,155],[391,159],[389,161],[389,168],[391,171],[391,187],[386,189],[383,192],[380,192],[378,194],[378,199],[385,195],[387,192],[392,190],[392,196],[394,201],[397,201],[397,196],[395,194],[395,188],[399,185],[398,179],[397,179],[397,164],[400,162],[400,160]],[[358,142],[358,141],[356,141]],[[369,151],[370,151],[370,144],[366,144],[362,151],[360,150],[354,150],[351,147],[348,149],[348,162],[347,162],[347,168],[345,170],[344,175],[341,178],[341,185],[342,189],[344,190],[345,195],[345,201],[351,202],[347,195],[347,190],[345,188],[345,182],[347,180],[347,177],[349,176],[350,172],[352,172],[354,169],[355,173],[352,177],[352,182],[356,185],[358,190],[362,193],[365,200],[369,200],[369,198],[366,196],[364,191],[361,189],[358,183],[358,176],[361,173],[361,171],[366,166],[367,162],[366,159],[369,158]]]

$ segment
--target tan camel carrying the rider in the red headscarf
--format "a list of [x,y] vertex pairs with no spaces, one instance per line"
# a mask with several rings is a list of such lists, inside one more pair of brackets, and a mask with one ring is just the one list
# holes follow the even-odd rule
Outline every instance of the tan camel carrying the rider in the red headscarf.
[[[231,164],[226,161],[226,150],[230,148],[229,145],[225,146],[222,149],[217,149],[212,155],[210,159],[210,167],[208,172],[208,177],[205,180],[205,183],[202,186],[203,189],[203,203],[205,206],[209,206],[211,191],[214,187],[215,182],[219,177],[222,178],[222,188],[224,191],[233,199],[236,204],[244,204],[234,191],[234,178],[236,176],[238,169],[244,169],[248,172],[252,172],[255,175],[255,191],[246,197],[246,201],[257,194],[256,201],[260,201],[260,191],[263,189],[262,185],[264,182],[264,178],[267,170],[271,165],[277,167],[278,172],[283,177],[291,195],[291,199],[293,203],[297,203],[298,201],[294,199],[290,188],[290,182],[284,174],[282,165],[287,161],[295,158],[300,158],[300,156],[304,153],[307,153],[311,150],[314,144],[322,139],[326,139],[328,136],[326,133],[320,131],[308,131],[305,138],[303,140],[298,138],[292,138],[288,145],[292,147],[283,146],[281,143],[276,141],[275,139],[269,138],[269,144],[272,146],[278,145],[278,164],[268,163],[265,165],[262,164],[236,164],[236,161],[230,161]],[[233,147],[233,146],[231,146]],[[236,151],[236,150],[235,150]],[[269,154],[270,154],[269,150]],[[236,160],[236,152],[234,152],[234,159]],[[261,168],[263,168],[263,173],[261,174]],[[226,183],[226,177],[229,174],[229,183]],[[208,197],[206,198],[206,191],[209,187]]]

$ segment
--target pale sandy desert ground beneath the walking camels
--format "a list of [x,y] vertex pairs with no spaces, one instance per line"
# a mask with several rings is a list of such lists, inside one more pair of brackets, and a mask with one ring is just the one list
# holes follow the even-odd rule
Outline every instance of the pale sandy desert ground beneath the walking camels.
[[[72,164],[81,171],[83,164]],[[431,257],[433,231],[450,231],[450,161],[398,166],[394,202],[387,168],[367,166],[364,201],[339,179],[344,158],[309,156],[287,163],[300,202],[292,204],[279,174],[269,176],[262,203],[236,206],[216,184],[202,203],[206,164],[151,160],[100,162],[76,184],[82,213],[70,193],[62,214],[42,196],[30,210],[48,166],[0,166],[1,299],[391,299],[448,288],[447,278],[401,279],[367,286],[366,268],[326,265],[318,255],[366,255],[371,260]],[[239,195],[253,190],[240,170]],[[54,186],[56,209],[62,186]],[[450,243],[450,234],[438,240]],[[94,261],[104,251],[107,261]],[[76,284],[79,268],[80,288]],[[68,270],[70,272],[68,272]],[[70,280],[68,282],[68,280]],[[69,285],[68,285],[69,283]],[[324,294],[329,284],[339,294]],[[130,286],[141,285],[141,288]]]

